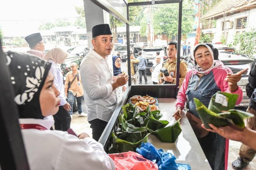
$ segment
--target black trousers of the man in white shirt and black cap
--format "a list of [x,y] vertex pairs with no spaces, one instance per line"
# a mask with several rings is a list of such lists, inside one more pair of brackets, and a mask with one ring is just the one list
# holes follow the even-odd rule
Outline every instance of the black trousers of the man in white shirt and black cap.
[[90,128],[93,130],[93,139],[98,141],[102,132],[106,128],[106,125],[108,124],[108,122],[100,119],[94,119],[88,122],[91,124]]

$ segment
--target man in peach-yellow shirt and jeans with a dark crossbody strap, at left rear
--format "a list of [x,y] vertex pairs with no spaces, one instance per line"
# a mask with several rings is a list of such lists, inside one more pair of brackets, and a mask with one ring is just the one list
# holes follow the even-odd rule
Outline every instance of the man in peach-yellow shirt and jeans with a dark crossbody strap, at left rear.
[[[71,71],[68,72],[66,75],[66,82],[64,86],[65,93],[68,97],[68,103],[71,106],[71,110],[69,111],[69,114],[72,118],[74,98],[76,98],[79,116],[87,117],[87,114],[82,112],[82,100],[84,97],[84,91],[83,91],[83,86],[80,78],[80,72],[79,70],[77,70],[78,66],[76,63],[71,63],[70,68],[71,68]],[[69,82],[71,84],[70,88],[68,88]]]

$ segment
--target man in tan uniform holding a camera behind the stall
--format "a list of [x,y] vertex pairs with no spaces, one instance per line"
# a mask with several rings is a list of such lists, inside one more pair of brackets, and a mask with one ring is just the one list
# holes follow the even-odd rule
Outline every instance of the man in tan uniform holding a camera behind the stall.
[[[168,70],[169,76],[165,76],[162,72],[158,75],[158,82],[162,84],[165,81],[165,84],[176,84],[176,63],[177,63],[177,43],[171,41],[167,44],[166,48],[168,59],[163,62],[163,68]],[[180,62],[180,81],[179,87],[181,87],[187,74],[187,64],[181,60]]]

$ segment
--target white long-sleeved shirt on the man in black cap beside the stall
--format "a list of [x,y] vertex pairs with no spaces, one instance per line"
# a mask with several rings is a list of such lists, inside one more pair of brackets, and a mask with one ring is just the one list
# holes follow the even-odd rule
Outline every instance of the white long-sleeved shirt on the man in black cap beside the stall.
[[108,122],[117,103],[108,62],[91,48],[80,64],[80,73],[88,106],[88,121],[101,119]]

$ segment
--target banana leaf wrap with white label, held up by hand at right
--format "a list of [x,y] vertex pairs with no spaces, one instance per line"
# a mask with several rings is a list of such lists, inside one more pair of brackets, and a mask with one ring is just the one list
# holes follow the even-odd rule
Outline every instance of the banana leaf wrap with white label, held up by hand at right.
[[213,95],[208,108],[198,99],[194,98],[196,110],[204,123],[205,128],[211,128],[209,123],[223,127],[234,124],[244,128],[244,119],[253,117],[253,114],[233,109],[236,105],[238,95],[218,91]]

